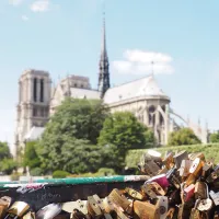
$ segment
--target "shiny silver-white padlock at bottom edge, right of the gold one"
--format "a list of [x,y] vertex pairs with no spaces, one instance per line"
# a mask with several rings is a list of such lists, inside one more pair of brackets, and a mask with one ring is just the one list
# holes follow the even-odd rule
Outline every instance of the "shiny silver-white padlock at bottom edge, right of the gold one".
[[54,218],[61,212],[61,204],[49,204],[36,212],[37,219]]

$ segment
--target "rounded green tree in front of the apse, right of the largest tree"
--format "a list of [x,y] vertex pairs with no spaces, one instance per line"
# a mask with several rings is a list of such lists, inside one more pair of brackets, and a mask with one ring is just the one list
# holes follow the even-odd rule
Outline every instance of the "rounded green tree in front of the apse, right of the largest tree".
[[103,147],[102,155],[106,168],[120,172],[129,149],[147,148],[153,140],[151,131],[139,123],[134,114],[117,112],[105,119],[99,145]]

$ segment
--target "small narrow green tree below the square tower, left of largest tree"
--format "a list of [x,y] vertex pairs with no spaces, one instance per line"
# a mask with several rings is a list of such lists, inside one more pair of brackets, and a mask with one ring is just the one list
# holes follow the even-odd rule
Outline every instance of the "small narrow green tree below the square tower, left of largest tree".
[[28,166],[30,170],[41,166],[41,160],[36,153],[36,147],[37,141],[28,141],[24,149],[23,165]]

